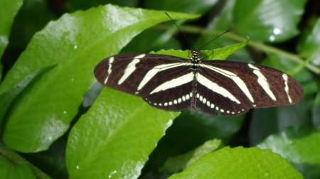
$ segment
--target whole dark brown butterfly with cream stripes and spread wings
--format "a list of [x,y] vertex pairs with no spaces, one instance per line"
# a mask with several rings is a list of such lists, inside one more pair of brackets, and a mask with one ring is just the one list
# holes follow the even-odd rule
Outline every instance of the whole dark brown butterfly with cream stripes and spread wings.
[[228,60],[124,53],[95,67],[102,85],[140,96],[152,107],[172,111],[191,108],[208,114],[238,116],[251,108],[290,106],[304,97],[293,77],[272,67]]

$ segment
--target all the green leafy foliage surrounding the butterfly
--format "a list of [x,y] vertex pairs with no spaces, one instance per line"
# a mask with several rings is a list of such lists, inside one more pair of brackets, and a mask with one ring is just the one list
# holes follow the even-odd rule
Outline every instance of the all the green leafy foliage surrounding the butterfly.
[[[62,2],[0,1],[1,178],[320,178],[319,2]],[[107,56],[187,58],[229,29],[203,54],[287,72],[302,102],[224,118],[95,83]]]

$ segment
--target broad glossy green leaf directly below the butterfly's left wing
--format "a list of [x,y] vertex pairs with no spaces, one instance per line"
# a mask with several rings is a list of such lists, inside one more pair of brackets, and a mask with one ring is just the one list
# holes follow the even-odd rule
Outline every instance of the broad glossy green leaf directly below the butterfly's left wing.
[[70,132],[70,178],[137,178],[178,114],[150,107],[140,97],[103,89]]

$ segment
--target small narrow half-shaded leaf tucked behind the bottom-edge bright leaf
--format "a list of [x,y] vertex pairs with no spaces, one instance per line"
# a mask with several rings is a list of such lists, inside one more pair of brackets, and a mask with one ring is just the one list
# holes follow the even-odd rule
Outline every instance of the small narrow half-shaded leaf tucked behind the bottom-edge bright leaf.
[[159,171],[165,170],[169,171],[170,173],[173,173],[183,170],[184,168],[187,168],[192,163],[197,161],[202,156],[206,155],[211,151],[217,150],[221,146],[223,146],[221,140],[213,139],[210,141],[206,141],[206,143],[203,143],[202,146],[199,146],[198,148],[195,148],[194,150],[189,151],[188,153],[175,157],[169,157],[166,160],[166,163],[164,163],[164,166],[161,167]]

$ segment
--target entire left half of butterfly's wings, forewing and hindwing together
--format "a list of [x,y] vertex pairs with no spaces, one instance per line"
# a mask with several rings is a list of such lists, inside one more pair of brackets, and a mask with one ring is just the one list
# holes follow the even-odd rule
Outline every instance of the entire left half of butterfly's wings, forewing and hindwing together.
[[191,104],[188,60],[171,55],[124,53],[95,67],[102,85],[142,97],[152,107],[181,111]]

